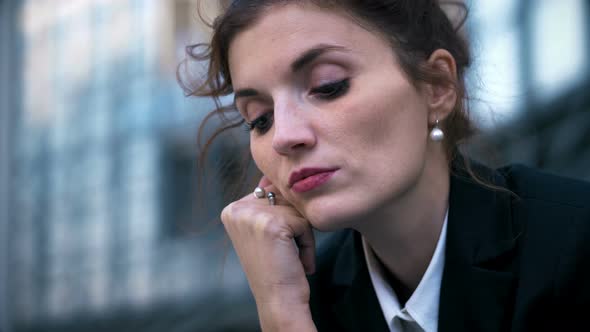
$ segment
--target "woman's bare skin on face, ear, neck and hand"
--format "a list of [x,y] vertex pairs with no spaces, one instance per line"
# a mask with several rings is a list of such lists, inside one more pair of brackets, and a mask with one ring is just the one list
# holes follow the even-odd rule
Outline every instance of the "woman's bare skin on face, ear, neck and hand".
[[[310,50],[320,54],[294,70]],[[456,78],[447,51],[427,61]],[[222,212],[263,329],[315,329],[305,278],[314,269],[312,228],[358,230],[402,285],[396,292],[409,296],[447,209],[446,156],[428,134],[452,111],[454,91],[417,88],[380,34],[313,5],[269,9],[233,40],[229,63],[242,116],[268,120],[257,122],[250,146],[264,174],[260,185],[277,193],[278,204],[248,195]],[[336,84],[343,81],[348,88]],[[289,176],[304,167],[337,171],[298,193]]]

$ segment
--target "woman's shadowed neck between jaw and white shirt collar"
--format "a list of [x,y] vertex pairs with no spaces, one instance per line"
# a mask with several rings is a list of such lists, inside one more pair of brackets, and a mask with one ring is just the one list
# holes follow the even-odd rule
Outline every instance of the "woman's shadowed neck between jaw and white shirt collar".
[[446,159],[432,158],[411,190],[356,228],[399,287],[409,294],[418,287],[438,243],[448,207],[449,182]]

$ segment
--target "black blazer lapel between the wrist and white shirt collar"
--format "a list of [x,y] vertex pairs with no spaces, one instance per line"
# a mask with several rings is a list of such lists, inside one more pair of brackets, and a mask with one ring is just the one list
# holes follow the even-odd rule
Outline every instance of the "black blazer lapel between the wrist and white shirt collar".
[[389,331],[371,283],[359,233],[351,232],[338,255],[332,278],[341,294],[332,311],[345,331]]

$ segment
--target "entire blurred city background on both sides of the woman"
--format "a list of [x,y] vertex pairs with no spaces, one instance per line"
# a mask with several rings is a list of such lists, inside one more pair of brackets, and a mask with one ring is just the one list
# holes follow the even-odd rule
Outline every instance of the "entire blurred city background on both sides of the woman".
[[[468,6],[472,112],[494,143],[474,153],[590,180],[590,4]],[[0,0],[1,332],[257,330],[215,223],[231,177],[197,190],[247,136],[200,164],[213,105],[175,77],[208,34],[192,0]]]

